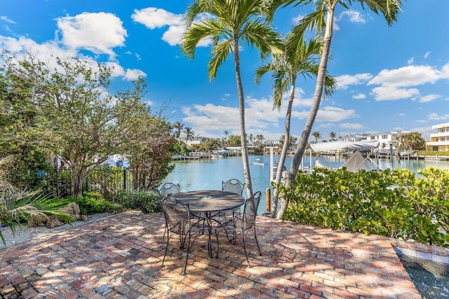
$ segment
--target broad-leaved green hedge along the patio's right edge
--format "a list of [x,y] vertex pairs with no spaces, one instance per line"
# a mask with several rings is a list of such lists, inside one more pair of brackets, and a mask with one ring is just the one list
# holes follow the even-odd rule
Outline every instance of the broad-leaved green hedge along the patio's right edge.
[[348,172],[317,168],[279,186],[284,220],[449,246],[449,174],[427,169]]

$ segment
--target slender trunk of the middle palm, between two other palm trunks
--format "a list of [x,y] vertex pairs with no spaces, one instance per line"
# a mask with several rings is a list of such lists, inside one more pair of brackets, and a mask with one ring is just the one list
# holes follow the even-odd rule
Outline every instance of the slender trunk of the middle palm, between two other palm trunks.
[[[288,107],[287,107],[287,113],[286,113],[286,132],[283,136],[283,146],[281,151],[281,156],[279,157],[279,165],[276,172],[276,178],[274,179],[274,183],[279,184],[281,183],[282,178],[282,172],[283,172],[283,165],[286,162],[287,157],[287,151],[288,146],[290,145],[290,120],[292,116],[292,106],[293,106],[293,99],[295,99],[295,85],[296,85],[296,77],[292,78],[292,86],[290,90],[290,96],[288,97]],[[274,188],[273,190],[273,201],[272,201],[272,213],[273,216],[276,216],[276,211],[278,209],[278,189]]]

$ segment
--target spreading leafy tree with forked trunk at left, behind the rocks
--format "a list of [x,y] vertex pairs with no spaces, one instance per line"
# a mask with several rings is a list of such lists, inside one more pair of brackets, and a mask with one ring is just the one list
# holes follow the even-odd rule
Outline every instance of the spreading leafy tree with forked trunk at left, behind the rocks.
[[111,70],[98,64],[94,70],[81,60],[56,59],[56,67],[27,55],[7,60],[6,76],[17,88],[26,86],[35,103],[39,129],[30,140],[67,165],[72,176],[72,195],[79,197],[86,177],[109,155],[123,152],[133,116],[145,109],[143,82],[134,90],[107,92]]

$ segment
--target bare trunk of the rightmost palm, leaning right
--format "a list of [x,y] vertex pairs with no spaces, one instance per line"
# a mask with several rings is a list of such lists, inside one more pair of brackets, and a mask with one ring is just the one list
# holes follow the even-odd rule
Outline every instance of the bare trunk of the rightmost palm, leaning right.
[[[323,38],[323,53],[321,55],[320,65],[318,69],[318,74],[316,76],[316,86],[314,101],[311,104],[309,118],[307,118],[307,123],[302,131],[301,138],[297,144],[295,155],[293,156],[292,165],[290,167],[290,173],[288,174],[288,179],[286,181],[286,186],[291,186],[296,179],[297,171],[300,168],[302,156],[307,147],[307,141],[310,137],[311,129],[314,125],[316,114],[318,113],[319,106],[321,104],[321,97],[323,96],[324,81],[326,79],[326,71],[328,69],[328,57],[330,53],[330,43],[332,41],[333,33],[333,17],[334,9],[337,1],[335,1],[332,6],[328,6],[328,11],[326,15],[326,33]],[[280,200],[281,205],[279,207],[278,214],[276,218],[282,218],[282,214],[286,211],[288,207],[288,199],[283,198]]]

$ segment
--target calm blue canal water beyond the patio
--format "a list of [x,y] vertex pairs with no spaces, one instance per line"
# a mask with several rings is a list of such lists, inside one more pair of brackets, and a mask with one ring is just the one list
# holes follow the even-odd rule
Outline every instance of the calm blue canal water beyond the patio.
[[[254,162],[260,159],[260,163]],[[340,167],[346,161],[344,158],[326,159],[333,167]],[[266,211],[266,189],[270,188],[269,178],[269,155],[252,155],[249,157],[251,181],[253,182],[253,192],[261,191],[262,200],[257,214],[262,214]],[[274,156],[274,163],[279,161],[278,156]],[[290,168],[292,158],[286,159],[286,167]],[[263,163],[263,165],[261,164]],[[309,158],[304,155],[304,167],[314,165],[315,158]],[[217,190],[222,188],[222,181],[228,179],[239,179],[244,182],[243,165],[241,157],[220,158],[212,160],[189,160],[175,162],[175,169],[168,174],[165,181],[179,183],[182,191],[191,190]],[[381,169],[391,167],[390,161],[387,159],[379,160]],[[417,172],[417,169],[426,169],[427,167],[434,167],[440,169],[449,169],[449,160],[394,160],[393,168],[410,169]],[[243,195],[246,196],[246,188],[243,190]]]

